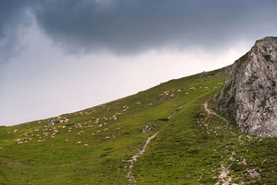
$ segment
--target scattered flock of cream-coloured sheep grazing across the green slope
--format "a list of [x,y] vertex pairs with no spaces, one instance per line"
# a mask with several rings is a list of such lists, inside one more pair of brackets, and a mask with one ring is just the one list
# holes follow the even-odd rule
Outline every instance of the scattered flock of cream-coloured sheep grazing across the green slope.
[[[218,83],[218,85],[222,85],[223,82],[221,83]],[[216,88],[216,87],[214,87]],[[199,87],[199,89],[202,89],[202,87]],[[195,91],[195,87],[190,87],[189,89],[190,91]],[[204,90],[205,91],[208,91],[208,87],[204,87]],[[163,91],[163,93],[161,93],[159,96],[163,97],[163,96],[168,96],[170,98],[174,98],[176,96],[176,94],[179,94],[181,93],[181,89],[177,89],[177,90],[172,90],[172,94],[170,94],[170,91]],[[188,95],[188,92],[185,93],[185,95]],[[141,102],[138,101],[136,102],[136,105],[140,105]],[[118,105],[118,103],[117,103]],[[148,103],[147,104],[148,106],[152,106],[152,103]],[[105,105],[102,106],[102,109],[105,109]],[[175,105],[173,105],[173,107],[175,107]],[[127,110],[129,109],[129,107],[127,105],[124,105],[122,107],[123,109],[123,112],[127,112]],[[107,108],[107,110],[109,110],[109,108]],[[91,111],[91,109],[89,109],[89,111]],[[82,115],[90,115],[91,113],[94,113],[96,112],[95,109],[93,109],[91,112],[79,112],[79,114],[75,114],[75,116],[82,116]],[[69,114],[70,116],[71,114]],[[100,123],[100,118],[96,118],[96,117],[92,117],[91,118],[91,121],[89,121],[88,123],[76,123],[74,125],[74,127],[69,127],[67,129],[66,127],[66,124],[69,123],[69,118],[60,118],[60,116],[57,116],[57,119],[56,119],[56,122],[57,123],[60,123],[60,125],[56,126],[56,127],[48,127],[46,125],[44,125],[44,127],[42,127],[42,130],[40,130],[40,134],[39,134],[39,130],[36,129],[36,130],[30,130],[28,132],[24,132],[23,134],[20,134],[19,137],[20,138],[23,138],[23,139],[16,139],[15,140],[15,143],[17,144],[24,144],[24,143],[28,143],[30,141],[33,141],[33,139],[36,139],[37,138],[37,142],[38,143],[44,143],[46,141],[46,138],[50,138],[50,139],[55,139],[55,136],[56,134],[58,134],[59,132],[62,132],[62,130],[67,130],[67,132],[71,133],[73,129],[75,130],[80,130],[80,132],[78,132],[77,134],[75,134],[76,137],[78,136],[81,136],[81,134],[84,132],[84,130],[89,130],[90,128],[92,127],[98,127],[98,130],[96,131],[96,134],[99,134],[101,131],[100,129],[104,128],[103,131],[104,132],[108,132],[109,129],[107,128],[108,126],[108,122],[111,122],[111,121],[116,121],[118,119],[118,116],[122,116],[123,114],[121,114],[120,112],[116,112],[113,116],[109,117],[109,118],[106,118],[106,117],[103,117],[102,120],[104,123]],[[41,124],[42,122],[41,121],[38,121],[37,124]],[[119,131],[121,130],[120,127],[117,127],[116,128],[116,131]],[[17,134],[18,130],[13,130],[13,132],[15,132],[15,134]],[[8,132],[8,134],[10,134],[10,132]],[[95,133],[91,133],[91,136],[95,136]],[[29,137],[29,138],[28,138]],[[42,137],[44,137],[44,139],[42,139]],[[106,136],[105,137],[105,140],[106,141],[109,141],[111,139],[111,137],[109,136]],[[69,140],[66,139],[66,142],[68,142]],[[81,141],[78,141],[76,143],[77,145],[80,145],[82,144]],[[87,143],[84,143],[84,147],[87,147],[88,144]],[[0,150],[3,150],[3,148],[0,148]]]

